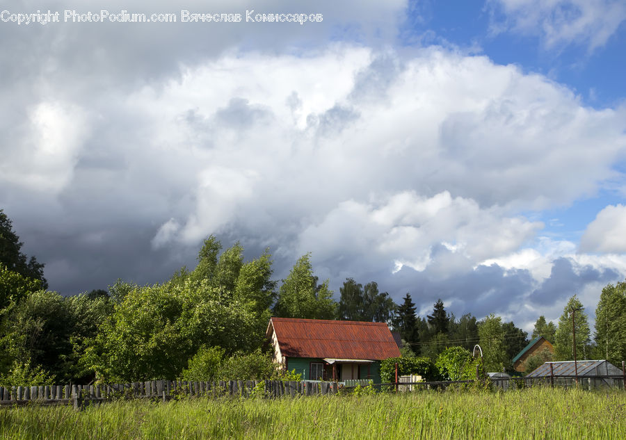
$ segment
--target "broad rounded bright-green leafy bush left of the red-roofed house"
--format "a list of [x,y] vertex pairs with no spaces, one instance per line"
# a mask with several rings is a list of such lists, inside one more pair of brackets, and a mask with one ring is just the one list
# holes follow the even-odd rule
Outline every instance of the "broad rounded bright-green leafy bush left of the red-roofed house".
[[234,352],[259,341],[255,316],[204,280],[124,290],[85,356],[104,380],[173,379],[202,345]]

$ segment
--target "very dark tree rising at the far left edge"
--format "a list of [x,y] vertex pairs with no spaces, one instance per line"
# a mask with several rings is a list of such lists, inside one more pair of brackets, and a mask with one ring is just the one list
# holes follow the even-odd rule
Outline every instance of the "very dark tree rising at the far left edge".
[[38,279],[41,288],[48,288],[48,282],[43,276],[44,265],[38,263],[34,256],[27,259],[22,254],[22,245],[19,237],[13,231],[13,222],[7,217],[3,209],[0,209],[0,263],[11,272],[17,272],[26,278]]

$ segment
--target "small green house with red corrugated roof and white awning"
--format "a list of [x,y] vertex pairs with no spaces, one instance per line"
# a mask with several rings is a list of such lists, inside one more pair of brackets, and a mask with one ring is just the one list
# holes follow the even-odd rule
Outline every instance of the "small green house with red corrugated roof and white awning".
[[380,383],[380,361],[400,350],[385,323],[271,318],[266,338],[274,361],[303,380],[371,379]]

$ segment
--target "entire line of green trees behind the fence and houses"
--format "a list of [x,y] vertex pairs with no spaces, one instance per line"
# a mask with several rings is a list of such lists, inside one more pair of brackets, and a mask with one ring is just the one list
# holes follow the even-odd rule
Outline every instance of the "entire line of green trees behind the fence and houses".
[[[43,264],[28,259],[21,247],[0,210],[0,382],[6,384],[227,377],[244,374],[241,368],[266,375],[272,370],[265,341],[271,316],[389,323],[401,335],[403,357],[433,362],[447,348],[472,350],[479,343],[489,371],[511,370],[511,359],[529,341],[513,322],[494,314],[456,318],[442,300],[422,318],[410,293],[395,304],[376,282],[348,278],[335,301],[328,280],[314,276],[310,254],[279,283],[272,279],[268,250],[245,261],[239,243],[223,250],[214,236],[204,241],[193,270],[183,267],[166,282],[139,286],[118,280],[108,291],[68,297],[47,290]],[[579,309],[579,359],[624,359],[626,283],[603,289],[595,340],[580,308],[572,297],[558,325],[540,316],[531,337],[554,343],[554,359],[571,359],[567,311]]]

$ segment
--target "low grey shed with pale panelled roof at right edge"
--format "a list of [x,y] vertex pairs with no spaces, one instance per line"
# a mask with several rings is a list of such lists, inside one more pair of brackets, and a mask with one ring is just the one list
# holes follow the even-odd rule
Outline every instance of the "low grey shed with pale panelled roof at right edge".
[[527,384],[543,380],[552,384],[572,385],[578,377],[579,384],[588,388],[597,386],[623,386],[624,373],[607,360],[545,362],[524,377]]

